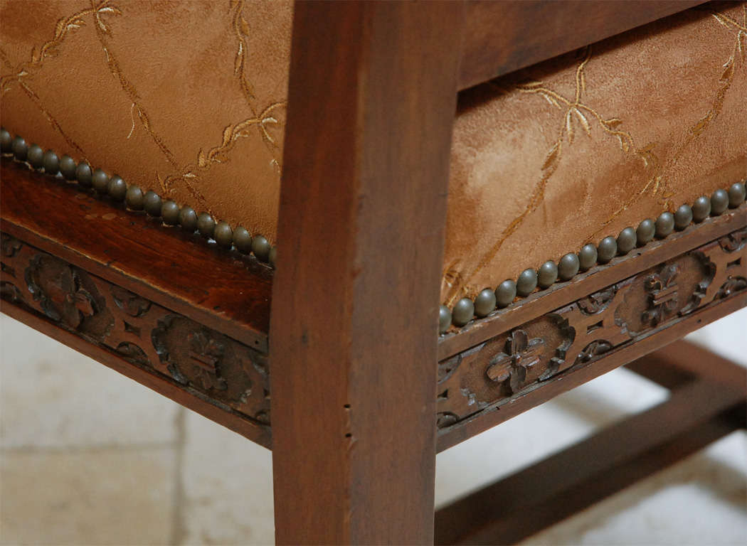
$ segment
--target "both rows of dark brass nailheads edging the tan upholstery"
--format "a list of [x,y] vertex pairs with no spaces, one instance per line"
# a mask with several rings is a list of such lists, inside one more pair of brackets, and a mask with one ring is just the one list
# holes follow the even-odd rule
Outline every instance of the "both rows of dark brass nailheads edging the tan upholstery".
[[[86,191],[90,191],[93,186],[97,193],[108,194],[116,201],[124,201],[127,208],[132,211],[145,209],[149,216],[161,217],[166,226],[179,225],[189,232],[199,232],[200,235],[214,240],[218,246],[244,254],[251,252],[259,261],[275,267],[277,247],[270,246],[263,235],[250,236],[242,226],[232,229],[228,223],[216,221],[208,213],[198,215],[186,205],[179,206],[171,200],[163,201],[161,196],[153,191],[143,193],[140,187],[126,184],[117,175],[108,178],[105,186],[103,170],[92,169],[85,161],[76,164],[68,155],[58,158],[52,150],[42,153],[40,146],[28,146],[22,137],[12,137],[5,128],[0,128],[0,149],[3,155],[12,155],[14,160],[28,164],[31,169],[42,170],[52,176],[63,176],[67,180],[77,180],[81,189]],[[594,264],[607,264],[615,256],[627,254],[633,249],[633,244],[638,247],[645,246],[654,241],[654,238],[663,239],[675,230],[682,231],[692,223],[701,223],[709,216],[720,216],[728,208],[736,208],[745,201],[746,183],[747,181],[735,182],[728,190],[714,191],[710,198],[700,196],[695,199],[692,207],[681,205],[674,214],[665,211],[655,221],[651,218],[642,220],[637,229],[629,226],[623,229],[617,238],[605,237],[596,246],[587,243],[577,254],[569,252],[562,256],[557,264],[548,260],[538,270],[524,270],[516,281],[506,279],[495,288],[495,291],[492,288],[483,289],[474,301],[464,297],[456,302],[452,309],[441,305],[438,312],[438,331],[444,334],[451,326],[460,328],[476,316],[487,317],[497,308],[514,305],[521,298],[538,290],[551,288],[556,282],[567,282]]]

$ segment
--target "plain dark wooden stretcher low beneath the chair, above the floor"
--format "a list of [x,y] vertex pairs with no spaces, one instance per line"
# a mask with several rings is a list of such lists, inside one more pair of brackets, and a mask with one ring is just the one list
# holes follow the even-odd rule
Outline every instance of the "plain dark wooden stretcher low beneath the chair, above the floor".
[[514,544],[744,426],[745,368],[682,341],[633,365],[689,379],[666,402],[438,510],[436,544]]

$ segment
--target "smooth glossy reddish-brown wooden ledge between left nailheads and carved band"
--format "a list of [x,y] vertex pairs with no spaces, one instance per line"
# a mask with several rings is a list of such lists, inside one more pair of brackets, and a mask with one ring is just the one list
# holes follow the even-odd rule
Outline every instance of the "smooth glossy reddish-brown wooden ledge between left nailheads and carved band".
[[267,352],[272,270],[3,158],[0,228]]

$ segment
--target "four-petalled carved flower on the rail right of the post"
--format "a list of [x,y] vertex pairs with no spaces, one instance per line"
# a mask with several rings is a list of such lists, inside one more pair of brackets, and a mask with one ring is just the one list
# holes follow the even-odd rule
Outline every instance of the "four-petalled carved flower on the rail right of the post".
[[527,332],[516,329],[506,339],[504,353],[498,353],[490,360],[486,373],[497,383],[509,380],[509,387],[516,392],[524,386],[527,370],[539,363],[545,340],[529,338]]

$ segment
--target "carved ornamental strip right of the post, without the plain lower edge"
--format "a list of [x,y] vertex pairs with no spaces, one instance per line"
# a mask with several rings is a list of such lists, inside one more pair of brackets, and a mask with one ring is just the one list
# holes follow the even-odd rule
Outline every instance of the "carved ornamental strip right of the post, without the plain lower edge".
[[500,407],[746,291],[746,234],[733,232],[440,362],[437,426]]

